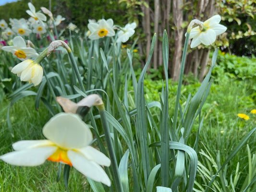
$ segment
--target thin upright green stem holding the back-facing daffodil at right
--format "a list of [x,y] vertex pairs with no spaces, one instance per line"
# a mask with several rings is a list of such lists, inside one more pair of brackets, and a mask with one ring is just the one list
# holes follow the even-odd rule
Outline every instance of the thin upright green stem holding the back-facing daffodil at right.
[[184,44],[184,48],[183,48],[181,71],[180,71],[180,76],[179,76],[179,81],[178,81],[176,102],[175,102],[175,108],[174,108],[174,114],[173,114],[172,128],[175,131],[176,131],[177,118],[178,118],[179,103],[180,103],[180,98],[181,98],[181,89],[182,89],[183,73],[184,73],[186,54],[187,54],[187,48],[188,48],[188,40],[189,40],[189,32],[187,32],[187,34],[186,34],[185,44]]

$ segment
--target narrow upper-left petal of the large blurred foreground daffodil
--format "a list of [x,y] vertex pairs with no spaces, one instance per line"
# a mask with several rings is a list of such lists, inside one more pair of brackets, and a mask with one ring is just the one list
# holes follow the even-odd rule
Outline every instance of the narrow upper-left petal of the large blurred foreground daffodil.
[[52,142],[49,140],[43,139],[43,140],[23,140],[18,141],[12,144],[12,148],[15,151],[20,151],[28,148],[35,148],[39,146],[49,146],[52,145]]

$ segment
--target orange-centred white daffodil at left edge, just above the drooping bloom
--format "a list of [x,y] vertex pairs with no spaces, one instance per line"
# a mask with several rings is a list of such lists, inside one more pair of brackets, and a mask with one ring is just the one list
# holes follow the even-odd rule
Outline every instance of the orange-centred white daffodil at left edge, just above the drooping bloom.
[[26,42],[21,36],[15,36],[13,38],[13,46],[4,46],[2,49],[11,52],[19,60],[27,60],[38,56],[34,48],[26,47]]

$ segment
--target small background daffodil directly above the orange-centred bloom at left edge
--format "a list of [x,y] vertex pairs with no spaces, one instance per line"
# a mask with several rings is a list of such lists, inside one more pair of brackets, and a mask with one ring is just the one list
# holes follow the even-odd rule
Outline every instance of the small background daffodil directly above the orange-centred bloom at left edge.
[[14,31],[19,36],[28,36],[32,33],[32,30],[29,29],[28,24],[24,18],[20,20],[13,20],[12,31]]

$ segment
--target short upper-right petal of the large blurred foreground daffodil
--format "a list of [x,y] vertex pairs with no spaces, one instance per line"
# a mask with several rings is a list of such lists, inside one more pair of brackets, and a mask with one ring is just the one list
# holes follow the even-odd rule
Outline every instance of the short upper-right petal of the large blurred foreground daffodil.
[[97,149],[93,148],[92,146],[87,146],[81,149],[78,149],[80,153],[82,153],[88,160],[95,161],[99,165],[102,166],[110,166],[110,159],[109,157],[105,156],[105,154],[101,153]]

